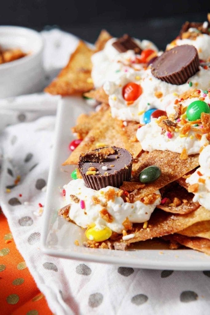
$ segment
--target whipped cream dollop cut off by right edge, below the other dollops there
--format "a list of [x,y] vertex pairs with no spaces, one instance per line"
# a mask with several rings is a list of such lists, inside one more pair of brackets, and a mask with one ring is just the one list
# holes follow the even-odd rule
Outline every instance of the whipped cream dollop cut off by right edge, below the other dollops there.
[[200,168],[186,179],[186,183],[198,185],[193,201],[210,210],[210,145],[200,153],[199,164]]

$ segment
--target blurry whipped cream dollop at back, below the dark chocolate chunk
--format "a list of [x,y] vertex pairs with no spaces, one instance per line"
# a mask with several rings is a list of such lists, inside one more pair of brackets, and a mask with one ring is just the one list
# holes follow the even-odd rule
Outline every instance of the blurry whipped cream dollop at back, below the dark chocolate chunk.
[[[135,69],[140,70],[144,64],[135,63],[136,55],[133,50],[120,53],[112,46],[117,38],[111,38],[105,44],[103,50],[93,54],[91,60],[93,64],[91,77],[94,87],[103,86],[105,81],[115,81],[122,73],[134,72]],[[133,41],[142,49],[153,49],[158,51],[157,47],[148,40],[133,39]]]

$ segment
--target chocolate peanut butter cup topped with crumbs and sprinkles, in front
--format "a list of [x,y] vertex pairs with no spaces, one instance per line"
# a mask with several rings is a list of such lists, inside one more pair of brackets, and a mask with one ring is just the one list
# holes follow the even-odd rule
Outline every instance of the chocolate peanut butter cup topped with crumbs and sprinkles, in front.
[[131,179],[132,162],[132,155],[125,149],[99,148],[80,155],[79,171],[89,188],[120,187]]

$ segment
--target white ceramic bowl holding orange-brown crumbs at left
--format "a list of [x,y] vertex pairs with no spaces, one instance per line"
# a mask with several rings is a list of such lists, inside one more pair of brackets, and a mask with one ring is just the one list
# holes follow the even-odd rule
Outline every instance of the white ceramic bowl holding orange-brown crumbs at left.
[[26,57],[0,64],[0,98],[39,92],[44,87],[43,39],[34,30],[0,26],[0,46],[20,48]]

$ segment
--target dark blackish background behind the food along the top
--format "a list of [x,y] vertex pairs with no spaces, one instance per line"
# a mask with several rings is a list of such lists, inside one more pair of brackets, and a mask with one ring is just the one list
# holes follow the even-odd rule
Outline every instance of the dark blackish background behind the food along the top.
[[204,21],[210,1],[154,0],[0,0],[0,24],[43,30],[54,25],[89,42],[102,28],[113,36],[128,33],[150,39],[160,49],[173,40],[186,21]]

